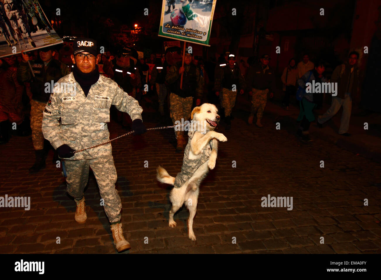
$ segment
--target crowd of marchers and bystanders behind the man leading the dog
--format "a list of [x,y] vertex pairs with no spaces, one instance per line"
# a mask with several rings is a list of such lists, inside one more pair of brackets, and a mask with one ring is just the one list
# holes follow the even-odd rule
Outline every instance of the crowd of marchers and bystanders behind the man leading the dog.
[[[36,161],[30,168],[31,173],[45,167],[45,157],[51,149],[49,143],[45,141],[44,144],[41,132],[42,111],[50,95],[45,93],[44,85],[51,81],[55,83],[72,71],[72,51],[68,45],[50,46],[0,59],[0,142],[8,141],[10,131],[19,136],[32,133]],[[256,117],[255,125],[261,128],[268,96],[274,96],[275,74],[269,66],[271,58],[268,54],[260,56],[258,61],[251,57],[237,63],[236,56],[229,52],[221,54],[217,61],[209,59],[205,62],[202,57],[186,52],[184,66],[179,47],[170,47],[163,54],[150,54],[146,58],[139,57],[138,52],[130,47],[115,54],[106,51],[98,55],[99,73],[114,80],[138,102],[156,107],[160,122],[168,115],[173,124],[182,119],[189,120],[194,106],[210,102],[218,105],[221,121],[226,130],[230,130],[237,93],[246,93],[251,98],[247,122],[251,125]],[[348,61],[333,71],[331,82],[338,83],[338,95],[332,97],[330,109],[318,117],[317,125],[320,128],[343,106],[338,133],[350,136],[352,98],[359,86],[358,58],[359,54],[352,51]],[[28,61],[32,62],[33,72]],[[312,80],[315,83],[328,82],[325,67],[326,62],[317,60],[314,63],[305,53],[299,63],[291,58],[280,77],[284,92],[282,106],[285,110],[289,109],[290,98],[294,98],[298,92],[303,93],[303,97],[297,101],[300,108],[297,134],[302,141],[311,141],[309,125],[315,120],[314,109],[321,108],[323,102],[323,94],[307,93],[306,84]],[[153,94],[157,98],[152,98]],[[115,108],[111,108],[111,114],[117,122],[131,129],[132,120],[128,114]],[[17,130],[11,130],[11,124],[16,124]],[[186,144],[182,131],[176,131],[176,140],[176,149],[182,150]],[[53,160],[57,159],[55,152]]]

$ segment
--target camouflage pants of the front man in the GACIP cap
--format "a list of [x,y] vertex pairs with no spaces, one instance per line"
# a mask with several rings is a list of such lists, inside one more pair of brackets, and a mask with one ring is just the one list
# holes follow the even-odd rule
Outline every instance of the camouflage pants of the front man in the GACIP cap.
[[89,179],[89,167],[93,170],[98,183],[99,193],[104,200],[104,211],[110,222],[120,221],[122,202],[115,189],[117,171],[112,155],[102,155],[94,159],[65,160],[66,168],[66,191],[76,200],[83,196]]

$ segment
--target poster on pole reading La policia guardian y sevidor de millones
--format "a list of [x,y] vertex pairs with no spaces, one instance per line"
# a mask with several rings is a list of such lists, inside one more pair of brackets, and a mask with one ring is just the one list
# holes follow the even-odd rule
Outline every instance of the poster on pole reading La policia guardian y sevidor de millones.
[[163,0],[159,36],[209,45],[217,0]]

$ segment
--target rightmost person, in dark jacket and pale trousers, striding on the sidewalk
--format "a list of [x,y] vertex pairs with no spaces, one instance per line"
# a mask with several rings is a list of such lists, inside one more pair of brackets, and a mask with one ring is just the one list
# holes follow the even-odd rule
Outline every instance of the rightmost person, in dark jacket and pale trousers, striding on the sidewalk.
[[359,67],[357,66],[358,59],[359,53],[352,51],[349,54],[348,62],[337,66],[335,70],[333,70],[331,82],[338,83],[338,94],[337,96],[332,96],[330,109],[318,117],[317,123],[320,128],[323,123],[336,115],[341,106],[343,106],[339,134],[351,136],[351,134],[348,133],[348,129],[352,111],[352,99],[357,94],[360,80]]

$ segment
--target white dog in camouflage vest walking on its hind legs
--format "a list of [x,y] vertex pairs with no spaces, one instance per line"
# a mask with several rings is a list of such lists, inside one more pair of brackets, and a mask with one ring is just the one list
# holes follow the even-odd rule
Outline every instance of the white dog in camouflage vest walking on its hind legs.
[[209,103],[204,103],[192,110],[189,141],[185,148],[181,172],[176,178],[170,176],[161,166],[157,168],[157,180],[174,186],[170,194],[172,209],[169,213],[169,226],[176,226],[173,215],[185,203],[189,209],[189,239],[193,241],[196,240],[193,232],[193,218],[196,214],[200,183],[207,175],[209,168],[213,169],[216,166],[217,140],[227,141],[222,133],[213,131],[219,121],[217,113],[216,106]]

